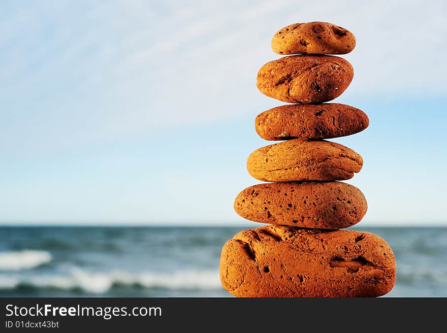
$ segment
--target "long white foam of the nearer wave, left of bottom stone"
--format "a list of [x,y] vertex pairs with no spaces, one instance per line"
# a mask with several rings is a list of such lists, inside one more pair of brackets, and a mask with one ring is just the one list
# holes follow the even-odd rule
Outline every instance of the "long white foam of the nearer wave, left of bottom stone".
[[173,290],[216,290],[221,288],[218,271],[179,271],[170,274],[123,271],[99,273],[71,268],[67,273],[65,275],[0,275],[0,289],[15,289],[20,285],[25,285],[47,289],[81,289],[88,293],[102,294],[117,285]]

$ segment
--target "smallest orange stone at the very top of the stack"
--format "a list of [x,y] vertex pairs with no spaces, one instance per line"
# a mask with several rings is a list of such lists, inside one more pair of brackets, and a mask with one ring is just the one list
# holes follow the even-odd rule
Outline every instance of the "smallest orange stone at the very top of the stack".
[[272,50],[278,54],[346,54],[355,46],[352,32],[328,22],[291,24],[272,39]]

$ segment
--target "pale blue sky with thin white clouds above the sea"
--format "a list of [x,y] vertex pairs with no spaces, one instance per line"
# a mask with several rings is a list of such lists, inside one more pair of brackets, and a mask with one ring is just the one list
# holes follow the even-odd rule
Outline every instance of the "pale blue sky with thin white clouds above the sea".
[[354,80],[335,103],[370,126],[346,181],[368,226],[446,225],[443,1],[2,1],[0,224],[244,225],[236,195],[283,105],[256,75],[296,22],[352,31]]

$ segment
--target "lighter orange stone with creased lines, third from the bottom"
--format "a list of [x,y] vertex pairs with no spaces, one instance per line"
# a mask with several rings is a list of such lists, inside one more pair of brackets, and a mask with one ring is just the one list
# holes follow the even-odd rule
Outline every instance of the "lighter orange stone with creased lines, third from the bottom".
[[354,150],[335,142],[293,139],[261,147],[247,159],[248,173],[265,182],[346,180],[362,169]]

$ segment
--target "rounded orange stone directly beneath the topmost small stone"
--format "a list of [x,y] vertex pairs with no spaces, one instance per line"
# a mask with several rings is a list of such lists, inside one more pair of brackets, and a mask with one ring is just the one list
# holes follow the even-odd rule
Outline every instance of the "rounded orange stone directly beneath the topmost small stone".
[[267,62],[256,86],[282,102],[316,104],[341,95],[354,77],[352,65],[332,55],[291,55]]

